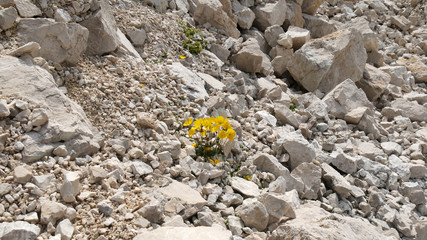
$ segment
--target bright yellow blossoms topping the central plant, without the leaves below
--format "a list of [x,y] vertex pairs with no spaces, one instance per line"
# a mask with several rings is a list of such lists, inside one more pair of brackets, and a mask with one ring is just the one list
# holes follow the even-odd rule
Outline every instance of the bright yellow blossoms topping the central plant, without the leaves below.
[[228,118],[224,118],[223,116],[218,116],[216,118],[199,118],[195,121],[190,117],[184,123],[184,126],[190,126],[193,124],[194,126],[188,130],[188,135],[192,137],[196,131],[200,132],[201,136],[206,136],[207,132],[218,132],[219,139],[227,138],[230,142],[234,140],[236,136],[236,132],[231,127],[231,124],[228,122]]

